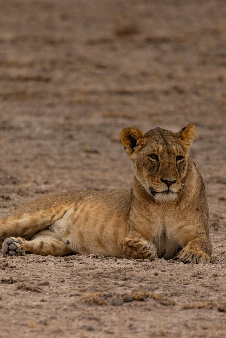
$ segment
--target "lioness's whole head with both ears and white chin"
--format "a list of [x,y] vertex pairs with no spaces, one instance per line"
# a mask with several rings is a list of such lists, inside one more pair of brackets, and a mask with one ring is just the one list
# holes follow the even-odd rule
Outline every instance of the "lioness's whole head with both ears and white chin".
[[194,137],[192,123],[176,133],[161,128],[145,134],[135,127],[122,129],[121,143],[133,161],[134,173],[157,203],[176,200],[184,188],[182,180]]

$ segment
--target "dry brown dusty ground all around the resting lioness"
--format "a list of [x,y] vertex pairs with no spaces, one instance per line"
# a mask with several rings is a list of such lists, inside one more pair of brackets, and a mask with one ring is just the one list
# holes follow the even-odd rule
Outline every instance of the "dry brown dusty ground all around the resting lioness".
[[226,2],[0,6],[0,215],[128,188],[120,130],[192,121],[213,243],[210,265],[1,254],[0,337],[226,337]]

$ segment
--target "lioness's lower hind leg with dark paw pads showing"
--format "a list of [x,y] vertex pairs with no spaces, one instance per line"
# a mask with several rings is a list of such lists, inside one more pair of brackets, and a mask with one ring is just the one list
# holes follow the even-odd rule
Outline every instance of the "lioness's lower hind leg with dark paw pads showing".
[[50,230],[37,233],[30,241],[21,237],[7,238],[2,245],[3,255],[24,255],[25,252],[41,256],[64,256],[70,254],[67,245]]

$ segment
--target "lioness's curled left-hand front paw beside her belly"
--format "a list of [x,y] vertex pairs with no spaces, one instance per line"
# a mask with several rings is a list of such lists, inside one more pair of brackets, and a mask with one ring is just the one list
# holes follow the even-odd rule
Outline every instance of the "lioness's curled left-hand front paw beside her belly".
[[120,255],[123,258],[129,259],[149,259],[154,260],[156,255],[156,248],[154,245],[149,244],[141,237],[131,238],[133,236],[128,235],[124,238],[119,245]]

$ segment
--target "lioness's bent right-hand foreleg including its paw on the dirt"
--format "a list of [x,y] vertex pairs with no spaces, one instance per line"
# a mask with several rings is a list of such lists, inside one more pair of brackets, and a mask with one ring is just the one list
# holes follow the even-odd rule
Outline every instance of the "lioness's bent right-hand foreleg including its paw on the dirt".
[[183,263],[209,263],[212,245],[206,235],[198,236],[190,241],[179,252],[175,259]]

